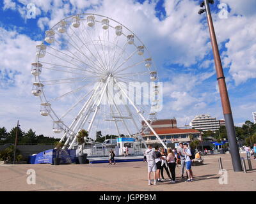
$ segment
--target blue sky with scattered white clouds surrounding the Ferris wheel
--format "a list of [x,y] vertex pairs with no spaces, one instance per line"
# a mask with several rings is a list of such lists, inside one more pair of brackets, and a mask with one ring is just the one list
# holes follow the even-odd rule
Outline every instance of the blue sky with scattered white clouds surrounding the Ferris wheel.
[[[28,3],[35,4],[36,18],[26,19]],[[221,3],[227,4],[227,18],[219,17]],[[19,119],[26,131],[33,128],[55,136],[51,119],[40,117],[39,100],[30,94],[35,45],[62,18],[88,11],[127,25],[147,45],[163,82],[159,118],[175,117],[179,126],[204,113],[223,119],[209,31],[205,14],[197,14],[199,4],[197,0],[1,1],[0,126],[10,129]],[[256,4],[220,0],[211,9],[234,122],[241,126],[256,112]]]

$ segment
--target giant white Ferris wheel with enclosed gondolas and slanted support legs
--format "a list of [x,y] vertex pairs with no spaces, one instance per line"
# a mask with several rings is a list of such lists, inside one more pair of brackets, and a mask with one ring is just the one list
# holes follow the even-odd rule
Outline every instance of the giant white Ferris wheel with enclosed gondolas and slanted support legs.
[[[92,13],[64,18],[36,46],[31,74],[40,114],[63,134],[63,149],[79,148],[81,129],[92,140],[101,131],[135,135],[146,145],[141,135],[152,131],[161,141],[151,126],[159,107],[157,69],[143,42],[116,20]],[[149,94],[131,91],[145,82]]]

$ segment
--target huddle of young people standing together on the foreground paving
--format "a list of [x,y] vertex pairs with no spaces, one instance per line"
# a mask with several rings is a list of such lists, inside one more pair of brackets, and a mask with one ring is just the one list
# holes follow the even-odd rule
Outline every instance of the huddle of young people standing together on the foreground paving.
[[[192,154],[187,143],[183,144],[180,142],[178,150],[175,151],[174,149],[168,148],[167,152],[162,147],[156,147],[155,150],[152,150],[152,145],[148,145],[148,149],[145,151],[144,155],[148,163],[148,185],[152,185],[151,172],[154,174],[154,185],[157,185],[159,182],[164,182],[163,170],[166,171],[170,183],[174,184],[176,182],[175,168],[178,160],[180,160],[181,164],[181,178],[184,178],[184,168],[186,167],[187,179],[185,181],[193,181],[193,172],[191,170]],[[160,178],[160,173],[162,178]]]

